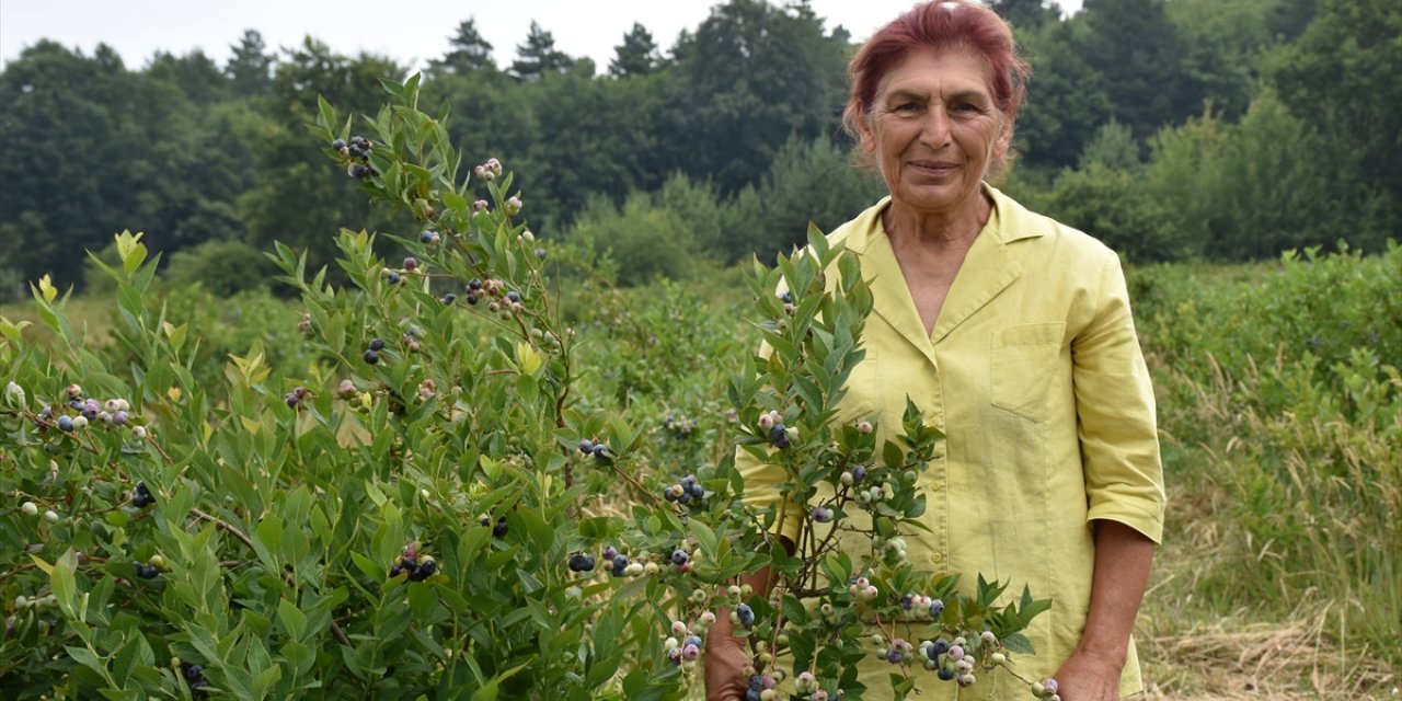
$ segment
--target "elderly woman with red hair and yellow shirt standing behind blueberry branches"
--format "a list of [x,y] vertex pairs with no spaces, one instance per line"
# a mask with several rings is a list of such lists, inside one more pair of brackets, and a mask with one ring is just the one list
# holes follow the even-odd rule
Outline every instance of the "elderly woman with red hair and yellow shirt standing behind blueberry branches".
[[[908,394],[945,432],[916,485],[930,533],[908,538],[911,561],[1050,597],[1019,673],[1103,701],[1143,690],[1131,631],[1164,515],[1154,397],[1115,252],[984,181],[1026,74],[1008,25],[970,1],[920,4],[852,59],[845,122],[890,196],[830,234],[875,297],[843,411],[899,426]],[[773,467],[740,468],[750,503],[778,499]],[[708,698],[743,698],[723,620],[707,645]],[[864,667],[864,698],[890,698],[889,672]],[[1001,680],[959,698],[1030,695]]]

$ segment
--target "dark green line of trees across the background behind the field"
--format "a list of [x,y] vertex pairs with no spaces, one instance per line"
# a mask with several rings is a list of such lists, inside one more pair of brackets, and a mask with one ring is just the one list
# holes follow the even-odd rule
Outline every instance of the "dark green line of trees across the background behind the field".
[[[1033,74],[1001,186],[1136,262],[1239,261],[1402,230],[1402,6],[1392,0],[991,0]],[[805,0],[726,0],[667,49],[641,24],[607,66],[533,22],[506,66],[471,17],[423,77],[468,163],[519,172],[538,236],[608,251],[620,279],[684,278],[831,229],[883,186],[840,126],[857,48]],[[372,210],[310,140],[317,95],[374,112],[408,67],[247,31],[129,69],[41,41],[0,72],[0,300],[146,231],[170,275],[264,282],[280,240],[332,265]],[[334,268],[334,265],[332,265]]]

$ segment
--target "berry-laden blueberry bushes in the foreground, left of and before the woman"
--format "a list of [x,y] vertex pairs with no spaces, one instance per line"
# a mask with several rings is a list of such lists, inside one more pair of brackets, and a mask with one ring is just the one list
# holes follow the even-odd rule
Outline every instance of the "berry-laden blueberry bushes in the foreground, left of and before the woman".
[[[217,388],[196,380],[199,339],[153,303],[140,234],[104,266],[114,348],[83,346],[48,279],[53,346],[0,321],[14,698],[683,698],[718,622],[744,641],[751,701],[861,698],[872,656],[897,695],[1009,676],[1056,698],[1015,660],[1047,601],[904,558],[939,432],[913,405],[889,430],[838,419],[871,310],[855,259],[815,230],[756,265],[765,352],[725,388],[726,428],[669,414],[655,440],[580,394],[589,336],[529,196],[496,160],[464,165],[418,86],[386,83],[359,121],[320,102],[341,177],[419,230],[342,230],[346,289],[269,254],[313,362],[252,342]],[[746,505],[729,449],[697,465],[659,447],[694,435],[781,471],[782,498]],[[742,582],[765,568],[763,594]]]

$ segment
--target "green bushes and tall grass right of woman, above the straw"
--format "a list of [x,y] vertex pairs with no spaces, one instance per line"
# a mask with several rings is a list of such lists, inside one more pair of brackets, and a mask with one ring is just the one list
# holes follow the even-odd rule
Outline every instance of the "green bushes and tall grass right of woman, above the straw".
[[1402,247],[1340,250],[1245,278],[1145,268],[1131,289],[1165,454],[1183,456],[1169,479],[1227,509],[1228,552],[1192,594],[1223,614],[1328,611],[1395,669],[1402,564],[1377,545],[1402,540]]

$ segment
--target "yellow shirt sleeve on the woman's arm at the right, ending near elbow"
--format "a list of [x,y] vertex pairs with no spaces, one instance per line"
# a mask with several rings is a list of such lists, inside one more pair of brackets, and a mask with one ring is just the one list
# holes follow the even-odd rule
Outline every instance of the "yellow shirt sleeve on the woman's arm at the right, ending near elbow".
[[1154,386],[1140,350],[1119,257],[1106,251],[1096,313],[1073,341],[1087,520],[1164,537],[1164,467]]

